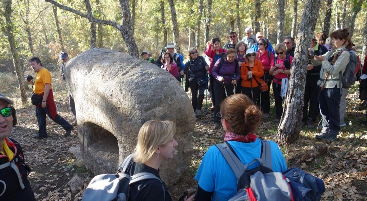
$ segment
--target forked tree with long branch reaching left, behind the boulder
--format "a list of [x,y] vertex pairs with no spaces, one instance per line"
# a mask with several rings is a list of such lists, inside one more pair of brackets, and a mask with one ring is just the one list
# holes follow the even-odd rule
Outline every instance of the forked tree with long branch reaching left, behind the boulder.
[[[88,16],[87,14],[84,14],[78,10],[75,10],[74,8],[70,8],[62,4],[59,4],[55,0],[45,0],[45,1],[50,2],[51,4],[54,4],[55,6],[61,8],[62,10],[73,12],[79,15],[80,17],[87,18],[87,19],[90,18],[90,16]],[[122,25],[119,25],[117,22],[114,22],[111,20],[97,19],[94,17],[91,17],[90,19],[96,23],[103,23],[106,25],[110,25],[116,28],[117,30],[119,30],[123,40],[126,43],[129,55],[139,58],[138,46],[135,42],[134,34],[132,32],[132,22],[131,22],[129,1],[128,0],[119,0],[119,1],[120,1],[120,6],[121,6]]]

